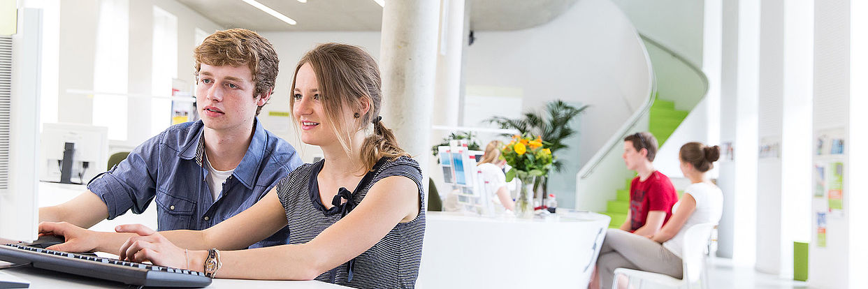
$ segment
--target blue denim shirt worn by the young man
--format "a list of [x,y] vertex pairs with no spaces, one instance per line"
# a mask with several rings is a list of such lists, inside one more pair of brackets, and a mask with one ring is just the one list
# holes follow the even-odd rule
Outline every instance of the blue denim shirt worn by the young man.
[[[90,181],[88,188],[109,207],[109,220],[144,212],[156,200],[157,230],[203,230],[262,199],[301,159],[295,148],[253,124],[253,140],[244,158],[223,185],[217,200],[207,185],[203,124],[174,125],[145,141],[126,160]],[[250,247],[286,244],[286,227]]]

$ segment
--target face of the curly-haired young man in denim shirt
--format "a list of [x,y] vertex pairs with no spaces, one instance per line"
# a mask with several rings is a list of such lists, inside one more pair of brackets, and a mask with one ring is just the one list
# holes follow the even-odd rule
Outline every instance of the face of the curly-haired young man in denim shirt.
[[270,91],[253,97],[253,74],[238,67],[201,64],[196,85],[196,108],[206,128],[231,131],[253,128],[256,108],[268,101]]

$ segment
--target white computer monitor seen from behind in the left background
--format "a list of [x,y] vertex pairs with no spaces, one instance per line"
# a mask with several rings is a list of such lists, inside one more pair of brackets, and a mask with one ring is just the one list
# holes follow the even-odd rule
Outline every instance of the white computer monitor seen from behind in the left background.
[[41,144],[42,181],[87,184],[109,162],[109,128],[45,123]]

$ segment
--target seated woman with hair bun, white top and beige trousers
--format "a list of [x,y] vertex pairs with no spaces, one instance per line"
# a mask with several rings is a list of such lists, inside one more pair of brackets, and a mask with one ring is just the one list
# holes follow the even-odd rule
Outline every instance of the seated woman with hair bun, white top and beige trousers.
[[[707,147],[700,142],[681,146],[681,172],[691,185],[672,208],[672,217],[654,235],[640,236],[618,229],[609,229],[603,240],[597,272],[600,287],[612,286],[615,268],[629,268],[663,273],[681,279],[681,248],[684,232],[699,223],[717,223],[723,213],[723,194],[708,179],[706,172],[720,158],[718,146]],[[619,282],[621,284],[621,282]],[[622,284],[627,284],[623,282]],[[592,287],[596,287],[592,283]]]

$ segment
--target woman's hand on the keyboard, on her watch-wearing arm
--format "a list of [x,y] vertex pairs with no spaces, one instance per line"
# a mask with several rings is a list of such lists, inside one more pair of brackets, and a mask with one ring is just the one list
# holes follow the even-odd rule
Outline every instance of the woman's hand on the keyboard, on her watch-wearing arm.
[[[115,227],[118,233],[136,233],[121,246],[120,259],[133,262],[151,261],[155,265],[187,268],[184,249],[174,246],[166,237],[141,224]],[[188,268],[187,268],[188,269]]]

